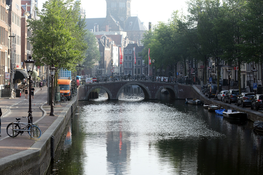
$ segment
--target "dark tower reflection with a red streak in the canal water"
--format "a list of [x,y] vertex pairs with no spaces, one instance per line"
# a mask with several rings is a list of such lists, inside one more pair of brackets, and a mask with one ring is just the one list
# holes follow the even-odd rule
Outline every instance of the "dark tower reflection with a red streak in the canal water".
[[114,174],[124,174],[129,169],[131,143],[126,132],[111,131],[107,133],[107,169]]

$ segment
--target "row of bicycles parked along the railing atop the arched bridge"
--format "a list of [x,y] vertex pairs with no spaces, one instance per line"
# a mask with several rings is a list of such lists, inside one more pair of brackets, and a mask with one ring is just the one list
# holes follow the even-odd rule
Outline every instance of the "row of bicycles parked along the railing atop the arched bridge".
[[183,83],[177,77],[148,76],[148,75],[117,75],[117,76],[98,76],[93,78],[92,83],[103,83],[107,81],[158,81],[167,83]]

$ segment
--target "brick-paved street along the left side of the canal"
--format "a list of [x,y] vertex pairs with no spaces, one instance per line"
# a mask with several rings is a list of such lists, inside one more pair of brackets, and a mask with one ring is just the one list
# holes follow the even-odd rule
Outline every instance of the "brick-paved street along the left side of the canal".
[[[29,96],[29,95],[28,95]],[[50,106],[47,103],[47,87],[35,88],[34,100],[32,101],[32,115],[34,124],[39,125],[39,129],[43,134],[46,129],[57,119],[58,115],[65,108],[67,103],[55,103],[55,116],[50,116]],[[31,139],[28,132],[12,138],[7,135],[6,127],[11,122],[16,122],[15,118],[21,118],[21,123],[27,123],[28,119],[23,116],[28,116],[29,99],[25,100],[25,95],[14,99],[0,98],[0,107],[2,110],[1,116],[1,135],[0,136],[0,159],[23,150],[30,148],[36,139]],[[41,139],[41,137],[39,138]]]

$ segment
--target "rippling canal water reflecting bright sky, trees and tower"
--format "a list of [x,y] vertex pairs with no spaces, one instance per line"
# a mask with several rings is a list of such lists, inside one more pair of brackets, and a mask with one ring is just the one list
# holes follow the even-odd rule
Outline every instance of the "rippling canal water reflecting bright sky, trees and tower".
[[262,174],[263,135],[252,122],[159,97],[129,86],[118,101],[102,92],[80,101],[47,174]]

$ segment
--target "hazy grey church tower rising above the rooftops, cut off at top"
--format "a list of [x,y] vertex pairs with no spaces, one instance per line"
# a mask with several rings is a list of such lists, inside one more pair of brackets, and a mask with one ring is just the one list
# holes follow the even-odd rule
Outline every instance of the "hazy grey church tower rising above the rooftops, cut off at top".
[[131,0],[106,0],[107,16],[118,17],[120,21],[131,16]]

